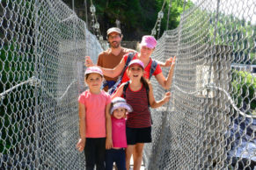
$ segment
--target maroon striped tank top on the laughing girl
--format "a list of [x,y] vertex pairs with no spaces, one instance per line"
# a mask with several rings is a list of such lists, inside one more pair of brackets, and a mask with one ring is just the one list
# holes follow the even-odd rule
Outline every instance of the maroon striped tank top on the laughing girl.
[[145,128],[151,126],[150,108],[148,106],[148,96],[146,88],[142,86],[137,91],[129,88],[126,90],[126,100],[133,108],[127,117],[127,127],[129,128]]

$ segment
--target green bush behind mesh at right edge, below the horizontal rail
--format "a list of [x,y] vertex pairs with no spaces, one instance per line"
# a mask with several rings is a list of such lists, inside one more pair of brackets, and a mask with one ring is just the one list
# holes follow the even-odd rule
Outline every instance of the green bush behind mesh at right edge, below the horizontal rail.
[[256,109],[256,78],[252,74],[245,71],[236,71],[232,73],[232,96],[237,101],[237,106],[240,108],[242,102],[250,105],[251,110]]

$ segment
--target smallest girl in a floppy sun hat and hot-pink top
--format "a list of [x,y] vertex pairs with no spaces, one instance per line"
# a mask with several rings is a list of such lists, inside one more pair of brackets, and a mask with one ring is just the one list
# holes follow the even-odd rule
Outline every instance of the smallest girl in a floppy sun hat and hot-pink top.
[[113,147],[106,150],[106,170],[113,170],[115,162],[118,170],[126,170],[125,150],[126,138],[126,114],[132,111],[132,107],[121,97],[112,100],[110,113],[112,115],[112,139]]

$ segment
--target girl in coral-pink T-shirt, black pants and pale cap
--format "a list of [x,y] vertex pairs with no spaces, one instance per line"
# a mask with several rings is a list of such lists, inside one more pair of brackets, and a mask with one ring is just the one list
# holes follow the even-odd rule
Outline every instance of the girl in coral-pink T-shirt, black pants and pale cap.
[[78,151],[84,150],[86,170],[105,169],[105,151],[112,147],[111,98],[101,90],[103,74],[99,67],[88,67],[84,81],[89,89],[78,98],[80,138]]

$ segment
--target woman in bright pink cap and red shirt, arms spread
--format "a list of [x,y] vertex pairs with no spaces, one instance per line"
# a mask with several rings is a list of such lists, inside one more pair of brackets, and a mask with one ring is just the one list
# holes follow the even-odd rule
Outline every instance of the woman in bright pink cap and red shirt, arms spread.
[[[138,59],[143,62],[143,65],[145,66],[143,77],[145,77],[146,79],[150,79],[150,68],[153,63],[150,56],[153,53],[155,47],[157,46],[157,40],[153,36],[150,36],[150,35],[143,36],[140,46],[141,46],[140,53],[135,53],[132,60]],[[106,76],[109,76],[109,77],[116,77],[116,76],[120,75],[122,70],[126,67],[127,60],[128,60],[128,54],[124,55],[120,64],[117,65],[116,67],[114,67],[113,69],[101,67],[103,74]],[[93,66],[93,63],[89,56],[85,57],[85,66],[86,67]],[[169,60],[166,60],[165,66],[171,66],[166,78],[165,78],[164,74],[162,73],[162,69],[159,66],[159,64],[157,64],[157,67],[154,70],[152,75],[154,75],[156,77],[158,83],[164,89],[170,89],[171,84],[172,84],[172,76],[173,76],[174,66],[175,66],[175,57],[170,58]],[[121,82],[126,82],[129,80],[127,70],[128,69],[126,68],[126,70],[124,71],[124,74],[122,76]]]

